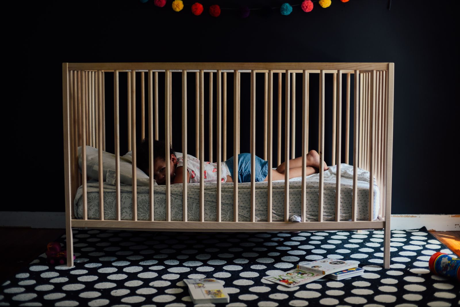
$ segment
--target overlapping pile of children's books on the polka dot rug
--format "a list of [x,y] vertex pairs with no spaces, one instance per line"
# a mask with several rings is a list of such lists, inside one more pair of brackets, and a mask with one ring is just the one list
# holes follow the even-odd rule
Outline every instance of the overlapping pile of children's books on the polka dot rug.
[[364,273],[364,270],[354,262],[324,258],[312,262],[300,262],[297,268],[293,270],[279,275],[266,276],[264,279],[287,287],[296,287],[322,277],[340,280],[358,276],[362,273]]

